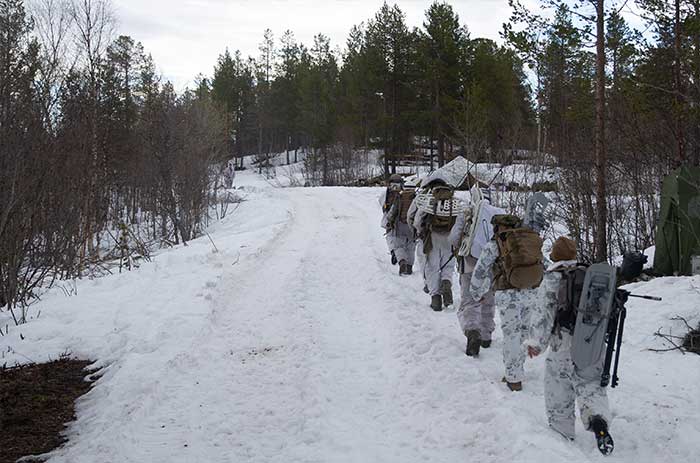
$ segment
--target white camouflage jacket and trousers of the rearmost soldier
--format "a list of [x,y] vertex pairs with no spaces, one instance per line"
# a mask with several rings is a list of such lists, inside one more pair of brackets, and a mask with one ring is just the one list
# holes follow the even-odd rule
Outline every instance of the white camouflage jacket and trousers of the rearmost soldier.
[[600,380],[584,380],[576,373],[571,360],[573,336],[564,329],[552,334],[557,313],[557,292],[562,278],[562,274],[555,270],[575,264],[575,261],[557,262],[545,272],[537,295],[538,303],[532,308],[528,338],[524,342],[525,348],[531,346],[540,352],[549,347],[544,377],[547,418],[553,429],[572,440],[577,399],[581,421],[586,429],[591,417],[596,415],[610,423],[608,396]]

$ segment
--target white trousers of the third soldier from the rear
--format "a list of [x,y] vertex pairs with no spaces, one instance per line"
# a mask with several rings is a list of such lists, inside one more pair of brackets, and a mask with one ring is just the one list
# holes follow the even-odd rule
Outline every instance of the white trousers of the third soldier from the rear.
[[469,284],[472,280],[472,273],[476,266],[476,259],[472,256],[464,257],[464,269],[459,276],[459,284],[462,293],[462,301],[457,310],[457,319],[462,328],[462,333],[477,330],[483,340],[491,339],[491,334],[496,328],[494,320],[496,316],[496,306],[494,302],[493,290],[486,293],[484,298],[475,301],[469,292]]

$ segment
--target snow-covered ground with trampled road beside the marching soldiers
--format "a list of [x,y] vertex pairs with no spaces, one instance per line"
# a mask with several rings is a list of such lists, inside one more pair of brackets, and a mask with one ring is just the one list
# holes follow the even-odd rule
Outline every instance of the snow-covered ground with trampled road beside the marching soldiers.
[[[218,252],[205,237],[53,290],[0,338],[8,365],[71,352],[103,369],[50,462],[604,460],[580,423],[575,443],[548,429],[543,359],[508,392],[500,331],[468,359],[454,311],[398,277],[380,189],[236,182],[247,200],[210,231]],[[605,461],[697,461],[700,358],[647,349],[679,332],[670,317],[697,322],[700,277],[632,289],[664,301],[628,305]]]

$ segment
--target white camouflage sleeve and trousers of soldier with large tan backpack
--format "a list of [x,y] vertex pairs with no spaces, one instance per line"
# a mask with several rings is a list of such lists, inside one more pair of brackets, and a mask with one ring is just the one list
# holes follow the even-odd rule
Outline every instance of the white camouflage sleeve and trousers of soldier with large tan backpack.
[[[481,301],[493,288],[493,266],[499,257],[498,244],[491,240],[481,251],[472,273],[469,291],[474,300]],[[525,377],[527,353],[523,342],[529,327],[530,306],[537,289],[505,289],[495,291],[494,301],[501,316],[503,331],[503,363],[506,381],[521,382]]]

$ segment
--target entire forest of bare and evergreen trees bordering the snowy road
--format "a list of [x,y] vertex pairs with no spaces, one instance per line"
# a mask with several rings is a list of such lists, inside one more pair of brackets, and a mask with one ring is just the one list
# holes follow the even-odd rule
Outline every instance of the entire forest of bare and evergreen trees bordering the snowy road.
[[280,152],[310,185],[356,182],[370,150],[386,175],[545,165],[584,257],[652,245],[662,178],[700,162],[700,1],[638,0],[643,31],[627,2],[510,3],[502,43],[439,1],[413,29],[385,3],[344,44],[268,29],[258,56],[232,44],[178,94],[108,0],[2,1],[2,302],[188,241],[223,161]]

